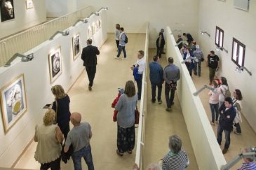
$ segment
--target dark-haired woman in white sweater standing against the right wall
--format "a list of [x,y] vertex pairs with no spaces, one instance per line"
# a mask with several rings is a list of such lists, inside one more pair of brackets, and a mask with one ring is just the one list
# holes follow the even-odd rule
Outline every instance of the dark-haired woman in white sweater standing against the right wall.
[[236,108],[236,117],[234,119],[234,126],[236,127],[235,134],[236,135],[242,135],[242,130],[240,127],[240,123],[242,123],[242,93],[239,89],[234,90],[233,92],[233,105]]

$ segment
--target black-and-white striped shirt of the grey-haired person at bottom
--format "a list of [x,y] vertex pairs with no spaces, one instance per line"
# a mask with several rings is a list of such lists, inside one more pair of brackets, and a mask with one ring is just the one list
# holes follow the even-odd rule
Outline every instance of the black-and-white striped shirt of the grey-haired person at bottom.
[[185,151],[181,150],[178,154],[170,151],[163,158],[162,170],[185,170],[188,164],[189,160]]

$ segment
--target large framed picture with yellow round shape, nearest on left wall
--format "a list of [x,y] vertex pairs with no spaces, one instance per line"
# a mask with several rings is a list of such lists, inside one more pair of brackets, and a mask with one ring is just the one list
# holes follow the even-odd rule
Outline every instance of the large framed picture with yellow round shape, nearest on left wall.
[[27,110],[24,75],[20,74],[1,88],[0,98],[3,127],[7,133]]

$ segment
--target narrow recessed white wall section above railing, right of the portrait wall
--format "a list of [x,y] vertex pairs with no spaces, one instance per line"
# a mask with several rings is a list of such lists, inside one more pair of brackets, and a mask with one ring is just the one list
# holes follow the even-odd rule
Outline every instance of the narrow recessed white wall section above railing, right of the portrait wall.
[[45,4],[47,17],[63,16],[77,8],[75,0],[45,0]]

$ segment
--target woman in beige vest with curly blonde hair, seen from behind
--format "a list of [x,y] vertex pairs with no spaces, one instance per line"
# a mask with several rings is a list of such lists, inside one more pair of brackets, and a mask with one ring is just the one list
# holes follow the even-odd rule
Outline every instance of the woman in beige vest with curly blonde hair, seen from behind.
[[36,125],[34,140],[37,143],[35,159],[41,164],[40,170],[59,170],[63,135],[58,125],[54,125],[55,111],[47,110],[43,124]]

